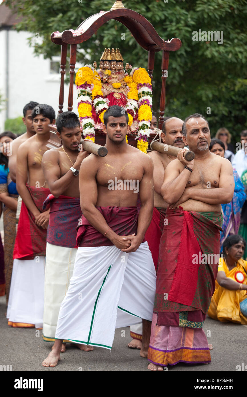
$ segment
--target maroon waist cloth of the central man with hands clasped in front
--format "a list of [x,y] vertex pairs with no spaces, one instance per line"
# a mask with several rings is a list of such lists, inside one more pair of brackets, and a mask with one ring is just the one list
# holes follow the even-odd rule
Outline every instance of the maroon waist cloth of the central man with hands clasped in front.
[[[109,227],[120,236],[137,233],[138,211],[136,207],[96,207]],[[82,215],[77,232],[79,247],[107,247],[114,245],[96,230]],[[82,224],[82,225],[81,225]],[[142,241],[144,243],[146,240]]]

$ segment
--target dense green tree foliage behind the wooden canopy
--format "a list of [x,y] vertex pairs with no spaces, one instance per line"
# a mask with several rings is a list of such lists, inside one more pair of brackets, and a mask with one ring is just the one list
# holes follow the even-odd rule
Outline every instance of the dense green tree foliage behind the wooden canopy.
[[[60,48],[50,41],[53,31],[76,29],[80,23],[102,8],[107,11],[114,0],[19,0],[17,10],[23,20],[18,29],[43,38],[34,44],[36,54],[50,58]],[[6,0],[11,7],[13,2]],[[125,8],[141,13],[167,40],[178,37],[182,47],[170,52],[165,116],[185,118],[201,112],[208,117],[213,134],[225,126],[237,139],[247,122],[247,1],[246,0],[123,0]],[[223,32],[223,44],[193,41],[193,31]],[[125,39],[123,40],[123,35]],[[99,61],[103,49],[119,47],[124,62],[147,67],[147,52],[121,23],[111,20],[98,29],[90,40],[80,44],[84,63]],[[86,59],[85,59],[86,58]],[[161,89],[161,52],[155,54],[154,110],[159,109]],[[207,108],[210,108],[210,110]],[[209,111],[211,113],[209,113]],[[207,113],[208,112],[208,113]]]

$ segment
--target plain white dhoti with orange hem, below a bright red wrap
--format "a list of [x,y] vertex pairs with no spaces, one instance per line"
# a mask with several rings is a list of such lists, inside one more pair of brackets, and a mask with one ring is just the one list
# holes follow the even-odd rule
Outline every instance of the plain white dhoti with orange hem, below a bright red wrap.
[[45,256],[30,260],[14,259],[7,310],[9,325],[42,328],[44,272]]

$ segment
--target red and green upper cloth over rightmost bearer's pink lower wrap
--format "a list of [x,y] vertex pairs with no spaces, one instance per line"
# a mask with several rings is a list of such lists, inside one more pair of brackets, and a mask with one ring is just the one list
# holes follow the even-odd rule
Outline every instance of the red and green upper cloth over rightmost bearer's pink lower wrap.
[[176,208],[167,209],[166,218],[154,304],[157,325],[201,328],[215,288],[222,213]]

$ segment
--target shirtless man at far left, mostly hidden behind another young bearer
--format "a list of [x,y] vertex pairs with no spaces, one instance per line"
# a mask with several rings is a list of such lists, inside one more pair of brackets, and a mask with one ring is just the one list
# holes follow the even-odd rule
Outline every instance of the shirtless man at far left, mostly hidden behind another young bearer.
[[16,182],[16,160],[17,160],[17,150],[19,146],[27,141],[27,139],[33,137],[35,134],[33,119],[32,119],[32,110],[35,106],[38,105],[38,102],[29,102],[23,108],[23,118],[22,121],[27,127],[27,132],[17,137],[12,143],[12,154],[9,157],[9,170],[10,177],[13,182]]

